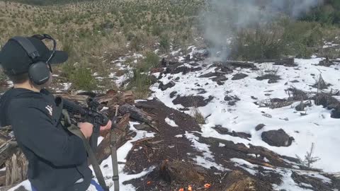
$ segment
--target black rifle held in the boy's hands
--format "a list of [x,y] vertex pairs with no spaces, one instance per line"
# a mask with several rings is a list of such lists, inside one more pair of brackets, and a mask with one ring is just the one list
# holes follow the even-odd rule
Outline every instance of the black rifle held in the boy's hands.
[[66,100],[61,97],[58,98],[62,99],[62,102],[64,103],[63,108],[69,112],[69,115],[80,115],[81,122],[89,122],[94,125],[94,132],[90,138],[90,146],[94,153],[96,153],[99,130],[101,126],[108,124],[107,115],[98,110],[98,107],[100,106],[98,101],[94,100],[94,98],[88,98],[88,108],[81,108],[80,105],[77,105],[70,100]]

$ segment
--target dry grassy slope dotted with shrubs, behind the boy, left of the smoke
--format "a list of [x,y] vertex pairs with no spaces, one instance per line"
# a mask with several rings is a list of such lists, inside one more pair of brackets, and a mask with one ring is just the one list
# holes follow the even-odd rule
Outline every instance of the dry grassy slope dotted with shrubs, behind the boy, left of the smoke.
[[[111,61],[126,52],[146,55],[158,48],[157,42],[162,42],[164,49],[169,48],[170,42],[174,47],[188,45],[191,31],[196,30],[191,18],[201,6],[203,0],[176,4],[167,0],[98,0],[53,6],[0,1],[0,46],[13,35],[50,34],[57,40],[57,49],[69,53],[68,66],[56,70],[78,83],[74,80],[83,76],[75,76],[78,66],[74,63],[86,64],[91,71],[106,77],[116,70]],[[153,33],[156,26],[159,30]],[[118,71],[118,76],[122,73]]]

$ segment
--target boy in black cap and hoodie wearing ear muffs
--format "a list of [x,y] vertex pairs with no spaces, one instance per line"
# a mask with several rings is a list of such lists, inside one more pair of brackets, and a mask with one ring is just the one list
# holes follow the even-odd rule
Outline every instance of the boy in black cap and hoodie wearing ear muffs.
[[[33,190],[84,191],[94,181],[83,141],[62,127],[55,98],[45,89],[52,82],[50,64],[66,62],[68,56],[55,47],[49,50],[42,42],[45,38],[53,40],[49,35],[14,37],[2,48],[0,64],[13,88],[1,96],[0,125],[11,125],[28,159]],[[78,126],[84,137],[91,137],[93,125]],[[101,130],[109,126],[111,122]]]

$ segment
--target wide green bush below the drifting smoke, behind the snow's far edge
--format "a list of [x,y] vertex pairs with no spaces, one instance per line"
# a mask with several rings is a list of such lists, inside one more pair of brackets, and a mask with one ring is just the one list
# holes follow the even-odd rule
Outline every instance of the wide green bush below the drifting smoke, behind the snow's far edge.
[[309,58],[323,43],[322,26],[315,22],[283,19],[256,28],[240,30],[232,42],[232,59],[276,59],[294,55]]

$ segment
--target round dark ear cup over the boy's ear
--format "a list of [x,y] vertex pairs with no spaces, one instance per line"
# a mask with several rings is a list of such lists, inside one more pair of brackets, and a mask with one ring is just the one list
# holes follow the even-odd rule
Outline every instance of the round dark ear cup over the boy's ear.
[[45,62],[37,62],[30,65],[28,69],[30,80],[37,85],[42,85],[50,79],[50,69]]

